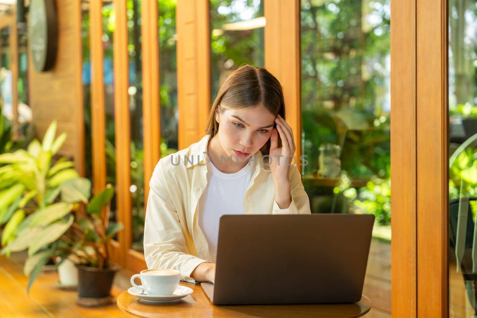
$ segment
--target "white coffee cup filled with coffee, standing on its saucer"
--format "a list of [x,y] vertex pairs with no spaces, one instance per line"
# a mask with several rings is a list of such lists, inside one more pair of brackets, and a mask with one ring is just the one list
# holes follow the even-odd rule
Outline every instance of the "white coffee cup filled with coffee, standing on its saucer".
[[[140,278],[143,285],[136,285],[135,278]],[[180,272],[175,269],[145,269],[131,277],[131,284],[147,291],[150,296],[172,295],[179,285]]]

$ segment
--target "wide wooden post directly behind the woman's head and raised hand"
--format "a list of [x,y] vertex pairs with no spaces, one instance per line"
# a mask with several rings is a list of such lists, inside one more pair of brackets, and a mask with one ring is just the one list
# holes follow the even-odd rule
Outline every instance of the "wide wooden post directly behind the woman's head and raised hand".
[[[301,155],[300,1],[265,1],[265,68],[280,81],[286,121]],[[298,165],[301,171],[301,165]]]

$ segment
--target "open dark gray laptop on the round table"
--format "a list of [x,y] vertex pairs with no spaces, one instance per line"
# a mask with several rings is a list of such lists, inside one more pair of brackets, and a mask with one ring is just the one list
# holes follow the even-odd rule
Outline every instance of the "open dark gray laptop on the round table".
[[223,215],[216,305],[352,303],[361,299],[374,215]]

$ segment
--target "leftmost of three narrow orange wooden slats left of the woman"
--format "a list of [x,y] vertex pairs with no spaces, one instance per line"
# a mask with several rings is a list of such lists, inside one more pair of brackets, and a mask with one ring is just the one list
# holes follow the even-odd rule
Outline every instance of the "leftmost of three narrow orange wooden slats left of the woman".
[[106,141],[104,110],[104,51],[102,1],[89,2],[89,34],[91,59],[91,132],[93,189],[99,193],[106,185]]

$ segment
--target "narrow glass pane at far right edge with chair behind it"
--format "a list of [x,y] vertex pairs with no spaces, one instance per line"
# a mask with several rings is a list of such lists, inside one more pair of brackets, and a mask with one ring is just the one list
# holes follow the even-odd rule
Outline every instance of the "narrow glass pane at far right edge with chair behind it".
[[477,314],[477,2],[449,1],[449,317]]

